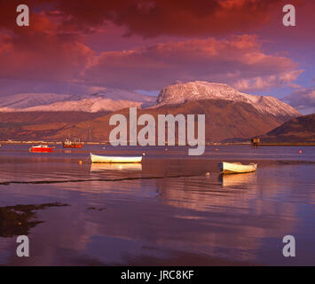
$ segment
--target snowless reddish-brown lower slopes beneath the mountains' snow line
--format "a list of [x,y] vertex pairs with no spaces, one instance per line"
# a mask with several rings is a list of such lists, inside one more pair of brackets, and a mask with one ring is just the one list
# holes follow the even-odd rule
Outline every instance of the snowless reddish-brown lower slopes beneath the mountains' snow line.
[[[35,113],[33,114],[35,115]],[[89,117],[91,114],[87,113],[77,113],[77,120],[82,115],[82,119],[77,122],[70,121],[67,116],[63,121],[62,113],[55,113],[55,115],[46,113],[42,122],[38,120],[37,116],[35,116],[34,122],[30,122],[32,113],[15,113],[12,121],[15,123],[18,121],[19,125],[12,127],[12,124],[6,122],[9,124],[5,124],[5,130],[0,131],[0,137],[60,140],[71,135],[86,140],[89,138],[88,130],[92,129],[94,141],[107,141],[110,131],[114,128],[108,123],[113,114],[124,114],[129,119],[129,108],[110,114],[98,115],[95,113],[94,117]],[[140,114],[153,114],[155,119],[158,114],[206,114],[207,142],[219,142],[229,138],[249,139],[266,133],[284,122],[283,116],[265,114],[251,104],[224,99],[192,100],[178,105],[138,109],[138,115]],[[3,115],[0,114],[0,121]],[[51,115],[49,120],[47,120],[47,115]],[[20,119],[18,119],[19,117]],[[4,118],[2,120],[4,121]],[[4,122],[2,125],[5,126]],[[19,128],[17,128],[18,126]],[[138,127],[138,130],[140,128]]]

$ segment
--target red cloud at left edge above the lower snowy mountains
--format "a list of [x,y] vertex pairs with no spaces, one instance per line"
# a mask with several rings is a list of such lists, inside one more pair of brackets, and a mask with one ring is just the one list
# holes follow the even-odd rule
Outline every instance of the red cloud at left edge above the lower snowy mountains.
[[0,36],[0,78],[73,82],[93,54],[76,36]]

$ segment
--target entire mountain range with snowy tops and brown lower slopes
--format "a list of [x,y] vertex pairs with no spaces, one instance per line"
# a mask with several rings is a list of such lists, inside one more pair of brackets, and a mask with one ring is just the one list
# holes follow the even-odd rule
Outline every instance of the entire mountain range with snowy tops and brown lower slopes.
[[[153,107],[145,106],[154,101]],[[15,111],[1,112],[0,108],[0,138],[61,141],[70,135],[89,141],[88,130],[93,129],[95,141],[107,141],[111,128],[104,125],[108,125],[110,117],[114,113],[129,117],[129,110],[122,108],[140,105],[139,115],[205,114],[207,142],[261,136],[301,115],[279,99],[248,95],[223,83],[177,83],[163,88],[158,99],[114,90],[80,96],[23,94],[0,103],[2,109]]]

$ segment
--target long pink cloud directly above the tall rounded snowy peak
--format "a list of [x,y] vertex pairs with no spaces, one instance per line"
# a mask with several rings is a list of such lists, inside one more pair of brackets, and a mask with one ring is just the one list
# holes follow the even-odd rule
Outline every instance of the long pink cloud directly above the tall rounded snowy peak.
[[[148,90],[160,89],[178,79],[233,85],[247,80],[246,86],[240,84],[239,87],[248,90],[291,83],[300,73],[291,59],[265,54],[256,36],[245,35],[103,52],[91,61],[83,78],[95,85],[114,87],[119,84],[126,89]],[[256,78],[268,80],[268,85],[257,85]],[[251,81],[253,88],[249,85]]]

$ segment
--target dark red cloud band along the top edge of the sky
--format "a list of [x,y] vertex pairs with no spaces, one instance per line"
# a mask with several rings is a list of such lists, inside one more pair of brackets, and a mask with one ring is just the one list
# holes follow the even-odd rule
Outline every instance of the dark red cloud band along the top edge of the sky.
[[[292,1],[291,1],[292,2]],[[298,3],[294,0],[293,3]],[[0,1],[0,27],[13,28],[20,1]],[[271,20],[281,0],[26,0],[31,11],[58,15],[62,28],[87,32],[106,21],[152,37],[216,36],[253,30]]]

